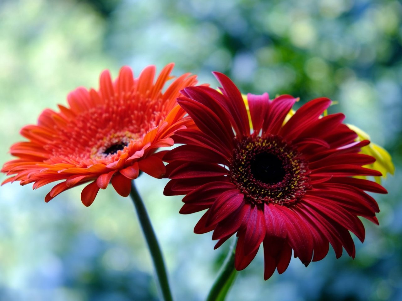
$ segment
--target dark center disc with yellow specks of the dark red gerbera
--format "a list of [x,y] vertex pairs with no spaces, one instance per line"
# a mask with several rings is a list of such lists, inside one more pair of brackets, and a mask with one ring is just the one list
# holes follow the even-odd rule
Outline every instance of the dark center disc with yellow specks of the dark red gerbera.
[[280,136],[252,135],[235,141],[231,181],[255,205],[285,205],[310,188],[308,165],[297,149]]

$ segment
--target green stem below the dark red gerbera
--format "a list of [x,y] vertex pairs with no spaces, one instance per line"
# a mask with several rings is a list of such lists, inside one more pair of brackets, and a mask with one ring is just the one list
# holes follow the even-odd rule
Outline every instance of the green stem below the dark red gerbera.
[[234,246],[236,239],[233,240],[230,246],[228,256],[226,256],[221,269],[219,270],[218,277],[213,283],[211,290],[207,296],[206,301],[224,301],[230,287],[236,278],[236,269],[234,268]]

